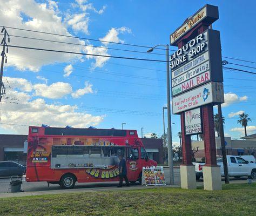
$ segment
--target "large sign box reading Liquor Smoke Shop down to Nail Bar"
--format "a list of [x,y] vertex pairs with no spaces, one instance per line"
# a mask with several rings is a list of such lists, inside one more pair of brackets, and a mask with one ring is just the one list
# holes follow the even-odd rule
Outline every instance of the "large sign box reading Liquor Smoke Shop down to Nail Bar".
[[223,82],[219,31],[207,29],[171,56],[172,96],[205,83]]

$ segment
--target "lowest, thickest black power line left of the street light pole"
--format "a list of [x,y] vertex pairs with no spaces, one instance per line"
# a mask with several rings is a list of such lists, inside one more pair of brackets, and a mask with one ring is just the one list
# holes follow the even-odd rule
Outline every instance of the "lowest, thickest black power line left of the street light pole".
[[[0,44],[3,46],[2,44]],[[39,51],[48,51],[48,52],[61,52],[61,53],[70,53],[76,55],[83,55],[83,56],[97,56],[97,57],[107,57],[107,58],[120,58],[120,59],[130,59],[130,60],[143,60],[149,62],[166,62],[165,60],[156,60],[156,59],[145,59],[145,58],[132,58],[132,57],[122,57],[122,56],[106,56],[106,55],[98,55],[98,54],[89,54],[89,53],[82,53],[82,52],[70,52],[70,51],[62,51],[62,50],[49,50],[49,49],[41,49],[41,48],[31,48],[29,46],[14,46],[9,45],[12,48],[19,48],[19,49],[28,49],[28,50],[39,50]]]

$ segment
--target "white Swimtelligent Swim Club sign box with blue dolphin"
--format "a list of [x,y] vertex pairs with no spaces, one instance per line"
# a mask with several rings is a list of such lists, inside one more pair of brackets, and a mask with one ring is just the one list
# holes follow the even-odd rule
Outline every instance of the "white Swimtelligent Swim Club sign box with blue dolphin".
[[210,103],[224,103],[223,83],[210,82],[173,97],[172,112],[177,114]]

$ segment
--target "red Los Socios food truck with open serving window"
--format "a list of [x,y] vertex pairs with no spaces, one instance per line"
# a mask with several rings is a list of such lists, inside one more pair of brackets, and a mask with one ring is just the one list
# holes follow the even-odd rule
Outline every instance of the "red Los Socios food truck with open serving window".
[[63,188],[78,183],[118,181],[118,156],[127,163],[130,182],[142,181],[149,159],[136,130],[29,127],[26,181]]

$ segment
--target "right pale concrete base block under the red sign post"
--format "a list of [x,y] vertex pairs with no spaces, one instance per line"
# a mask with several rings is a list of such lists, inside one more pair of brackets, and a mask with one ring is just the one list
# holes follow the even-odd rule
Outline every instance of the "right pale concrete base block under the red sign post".
[[204,190],[221,190],[220,166],[203,166]]

